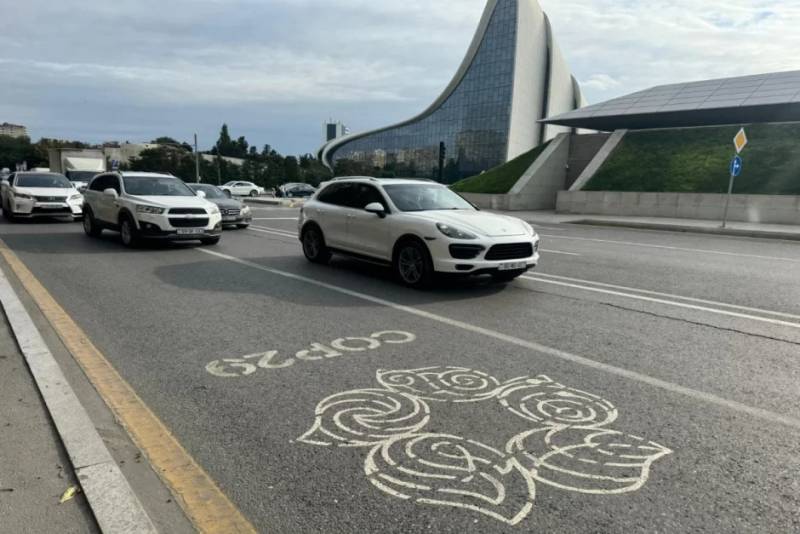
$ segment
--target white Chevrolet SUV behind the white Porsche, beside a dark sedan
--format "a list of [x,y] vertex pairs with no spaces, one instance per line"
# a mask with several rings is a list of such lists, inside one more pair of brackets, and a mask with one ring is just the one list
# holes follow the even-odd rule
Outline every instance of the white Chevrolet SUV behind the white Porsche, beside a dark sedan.
[[113,172],[96,176],[84,192],[83,229],[97,237],[119,231],[125,246],[142,239],[199,240],[215,245],[222,235],[219,208],[166,174]]

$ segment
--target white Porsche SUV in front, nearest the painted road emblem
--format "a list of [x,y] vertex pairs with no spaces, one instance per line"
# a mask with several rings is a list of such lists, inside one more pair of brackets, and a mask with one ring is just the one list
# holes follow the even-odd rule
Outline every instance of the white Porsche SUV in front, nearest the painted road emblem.
[[539,236],[525,221],[479,211],[430,181],[344,178],[320,186],[300,212],[310,261],[342,253],[391,265],[401,282],[435,273],[489,274],[508,282],[539,262]]

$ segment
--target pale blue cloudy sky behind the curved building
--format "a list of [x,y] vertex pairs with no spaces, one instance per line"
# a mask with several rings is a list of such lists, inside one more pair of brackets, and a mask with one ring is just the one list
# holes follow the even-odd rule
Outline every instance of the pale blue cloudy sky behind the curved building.
[[[526,0],[527,1],[527,0]],[[590,103],[800,70],[800,0],[541,0]],[[220,125],[314,153],[328,119],[410,118],[455,74],[485,0],[0,0],[0,122],[31,137],[200,149]]]

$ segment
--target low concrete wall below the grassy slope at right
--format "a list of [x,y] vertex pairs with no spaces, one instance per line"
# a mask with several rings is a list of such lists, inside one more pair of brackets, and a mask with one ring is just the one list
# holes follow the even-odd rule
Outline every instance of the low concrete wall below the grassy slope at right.
[[[561,191],[556,211],[575,215],[722,220],[722,194]],[[502,209],[502,208],[499,208]],[[728,219],[765,224],[800,224],[800,196],[733,195]]]

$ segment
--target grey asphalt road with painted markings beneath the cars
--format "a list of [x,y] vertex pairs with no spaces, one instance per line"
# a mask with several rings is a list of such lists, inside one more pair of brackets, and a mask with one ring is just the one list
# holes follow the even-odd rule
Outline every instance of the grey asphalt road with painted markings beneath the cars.
[[255,211],[0,237],[260,531],[800,531],[799,244],[552,226],[524,279],[415,292]]

